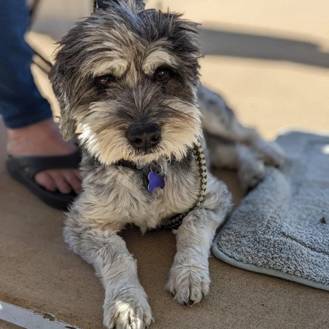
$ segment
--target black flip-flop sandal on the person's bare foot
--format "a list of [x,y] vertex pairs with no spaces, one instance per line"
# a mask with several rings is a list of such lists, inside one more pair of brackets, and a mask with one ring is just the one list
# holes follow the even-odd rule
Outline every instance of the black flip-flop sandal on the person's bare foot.
[[49,169],[77,169],[82,155],[80,149],[68,156],[8,156],[6,160],[7,170],[21,184],[29,188],[45,204],[60,210],[67,210],[67,206],[73,202],[77,194],[60,193],[60,191],[48,191],[40,186],[34,177],[40,171]]

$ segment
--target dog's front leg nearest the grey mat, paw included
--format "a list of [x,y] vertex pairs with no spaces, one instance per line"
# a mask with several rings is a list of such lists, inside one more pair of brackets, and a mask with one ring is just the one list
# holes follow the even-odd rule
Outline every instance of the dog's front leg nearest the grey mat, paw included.
[[207,295],[210,246],[230,207],[231,197],[226,185],[209,174],[202,206],[189,212],[176,232],[177,253],[166,289],[178,303],[195,304]]

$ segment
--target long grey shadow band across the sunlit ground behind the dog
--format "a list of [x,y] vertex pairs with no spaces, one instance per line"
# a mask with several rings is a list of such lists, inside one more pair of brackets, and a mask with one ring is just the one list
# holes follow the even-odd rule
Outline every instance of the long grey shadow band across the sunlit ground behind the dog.
[[221,29],[199,29],[206,55],[289,61],[329,69],[329,53],[319,45],[288,38],[277,38]]

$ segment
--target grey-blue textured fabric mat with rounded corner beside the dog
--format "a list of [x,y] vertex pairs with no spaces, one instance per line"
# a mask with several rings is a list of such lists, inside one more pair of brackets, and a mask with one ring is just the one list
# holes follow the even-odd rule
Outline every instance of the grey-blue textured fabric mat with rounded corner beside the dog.
[[329,136],[289,132],[267,175],[217,234],[217,258],[329,291]]

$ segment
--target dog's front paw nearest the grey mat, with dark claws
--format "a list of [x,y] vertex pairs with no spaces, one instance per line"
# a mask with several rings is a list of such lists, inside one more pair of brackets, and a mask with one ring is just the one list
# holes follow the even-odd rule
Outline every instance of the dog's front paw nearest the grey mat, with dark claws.
[[203,265],[173,265],[170,270],[167,291],[173,299],[185,305],[193,305],[209,291],[208,267]]

